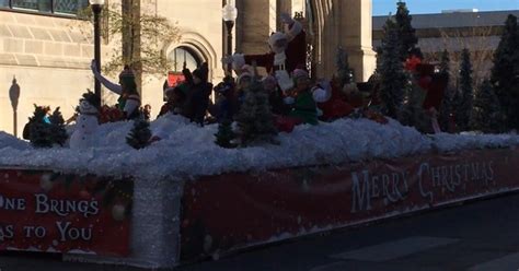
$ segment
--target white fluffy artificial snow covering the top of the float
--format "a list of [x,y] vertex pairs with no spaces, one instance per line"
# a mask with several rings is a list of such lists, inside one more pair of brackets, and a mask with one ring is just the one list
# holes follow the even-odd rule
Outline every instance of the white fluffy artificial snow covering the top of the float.
[[387,125],[368,119],[339,119],[319,126],[298,126],[291,133],[281,132],[278,145],[222,149],[214,142],[217,125],[200,128],[183,117],[166,115],[151,123],[153,133],[162,140],[134,150],[125,140],[131,127],[131,121],[102,125],[92,134],[97,143],[85,150],[34,149],[0,132],[0,165],[138,179],[196,178],[228,172],[401,157],[431,150],[451,152],[519,144],[516,134],[425,136],[392,119]]

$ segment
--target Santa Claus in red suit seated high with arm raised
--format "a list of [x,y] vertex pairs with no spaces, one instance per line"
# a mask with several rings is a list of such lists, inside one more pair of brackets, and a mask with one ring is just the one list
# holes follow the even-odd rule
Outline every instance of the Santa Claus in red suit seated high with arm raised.
[[269,74],[276,75],[278,83],[282,87],[284,79],[279,78],[279,72],[286,71],[291,74],[296,68],[304,68],[307,63],[307,34],[300,22],[293,20],[290,15],[281,14],[286,30],[284,33],[276,32],[268,38],[270,52],[263,55],[241,55],[234,54],[227,61],[232,62],[237,73],[244,64],[264,67]]

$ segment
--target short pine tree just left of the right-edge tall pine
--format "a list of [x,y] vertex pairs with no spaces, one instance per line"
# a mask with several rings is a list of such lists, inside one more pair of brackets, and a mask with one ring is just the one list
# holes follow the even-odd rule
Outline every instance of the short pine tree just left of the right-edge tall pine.
[[505,130],[499,99],[488,80],[483,81],[474,98],[471,127],[485,133]]

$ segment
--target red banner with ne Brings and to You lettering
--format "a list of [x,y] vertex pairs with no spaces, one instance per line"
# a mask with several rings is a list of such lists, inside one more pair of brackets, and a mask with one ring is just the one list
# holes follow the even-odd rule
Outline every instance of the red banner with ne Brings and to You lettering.
[[0,169],[0,249],[126,256],[132,181]]

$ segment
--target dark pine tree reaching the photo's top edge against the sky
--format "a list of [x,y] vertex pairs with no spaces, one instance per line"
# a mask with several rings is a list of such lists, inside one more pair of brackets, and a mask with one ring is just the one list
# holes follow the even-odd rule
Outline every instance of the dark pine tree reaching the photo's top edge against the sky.
[[412,26],[413,16],[410,15],[410,10],[405,2],[399,1],[396,3],[395,21],[397,26],[397,36],[402,43],[400,48],[401,60],[405,61],[413,52],[416,56],[422,57],[422,51],[416,47],[418,38],[416,37],[416,31]]

